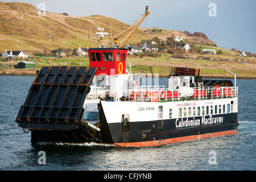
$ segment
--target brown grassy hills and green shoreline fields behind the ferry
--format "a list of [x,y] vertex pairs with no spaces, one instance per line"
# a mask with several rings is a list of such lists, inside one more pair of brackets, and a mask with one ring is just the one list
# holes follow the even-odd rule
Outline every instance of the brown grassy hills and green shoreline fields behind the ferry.
[[[110,33],[111,24],[113,36],[130,27],[129,24],[102,15],[78,17],[46,12],[46,16],[39,16],[38,10],[28,3],[0,2],[0,53],[5,49],[44,52],[45,49],[89,47],[90,33],[92,33],[92,47],[96,47],[97,37],[94,32],[97,31],[97,27],[104,27],[105,32]],[[90,32],[90,30],[92,31]],[[51,35],[51,42],[49,42],[49,35]],[[165,40],[172,35],[181,36],[189,43],[214,44],[208,39],[192,37],[177,30],[163,28],[138,28],[129,43],[136,45],[141,40],[152,40],[155,36]],[[110,38],[110,35],[107,38]],[[187,66],[188,68],[200,68],[200,73],[203,76],[232,77],[230,73],[224,71],[224,69],[229,69],[237,73],[237,77],[256,78],[255,58],[240,57],[238,53],[219,47],[202,46],[201,48],[214,48],[216,52],[221,50],[223,54],[199,55],[186,52],[181,59],[167,53],[160,57],[129,56],[127,63],[132,64],[133,73],[140,71],[141,73],[159,73],[160,76],[168,76],[174,67]],[[36,62],[38,68],[48,65],[89,65],[88,59],[79,57],[42,58],[33,61]],[[241,64],[241,61],[246,61],[247,64]],[[14,68],[17,63],[14,61],[14,63],[3,62],[3,64]],[[26,73],[26,71],[9,68],[5,67],[2,73],[14,75],[34,75],[36,73],[35,70]]]

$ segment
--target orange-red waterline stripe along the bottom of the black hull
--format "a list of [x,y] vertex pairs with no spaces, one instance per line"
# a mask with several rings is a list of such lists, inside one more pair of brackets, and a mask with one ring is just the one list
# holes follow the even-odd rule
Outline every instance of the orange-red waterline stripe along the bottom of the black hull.
[[238,129],[228,130],[228,131],[218,131],[216,133],[207,133],[207,134],[200,134],[200,135],[191,135],[191,136],[185,136],[185,137],[163,139],[163,140],[151,140],[146,142],[130,142],[130,143],[114,143],[114,144],[122,147],[149,147],[149,146],[159,146],[167,143],[177,143],[177,142],[185,142],[185,141],[195,140],[195,139],[219,137],[222,135],[234,135],[237,133],[238,133]]

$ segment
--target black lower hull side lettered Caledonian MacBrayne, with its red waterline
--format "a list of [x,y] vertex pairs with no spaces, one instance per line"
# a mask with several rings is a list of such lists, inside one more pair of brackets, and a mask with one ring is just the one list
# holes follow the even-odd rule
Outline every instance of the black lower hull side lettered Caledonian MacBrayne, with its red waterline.
[[[158,127],[159,121],[130,123],[129,130],[123,129],[120,123],[110,124],[109,128],[114,143],[121,146],[151,146],[155,144],[158,145],[159,143],[174,143],[175,140],[179,142],[182,140],[209,138],[237,133],[239,123],[237,119],[233,119],[233,117],[237,118],[237,113],[216,116],[224,117],[224,122],[220,124],[176,129],[176,119],[168,119],[163,121],[163,125],[161,124],[161,126],[163,126],[162,128]],[[199,118],[201,117],[195,117],[195,119]]]

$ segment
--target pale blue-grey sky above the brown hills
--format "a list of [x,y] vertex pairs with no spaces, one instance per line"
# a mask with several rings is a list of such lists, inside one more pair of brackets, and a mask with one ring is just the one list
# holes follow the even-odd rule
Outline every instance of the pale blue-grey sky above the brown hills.
[[[13,0],[15,1],[15,0]],[[3,1],[11,2],[11,1]],[[256,53],[255,0],[16,0],[51,13],[69,16],[104,15],[133,24],[146,5],[151,13],[141,27],[203,32],[218,47]],[[212,4],[213,3],[213,4]]]

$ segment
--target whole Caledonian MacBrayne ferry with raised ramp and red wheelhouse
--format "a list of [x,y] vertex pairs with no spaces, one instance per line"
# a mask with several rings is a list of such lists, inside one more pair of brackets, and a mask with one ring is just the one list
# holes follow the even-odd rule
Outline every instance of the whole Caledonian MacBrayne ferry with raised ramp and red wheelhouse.
[[148,147],[238,133],[235,74],[233,83],[176,67],[168,85],[143,85],[127,48],[88,54],[89,67],[42,67],[36,75],[15,120],[32,142]]

